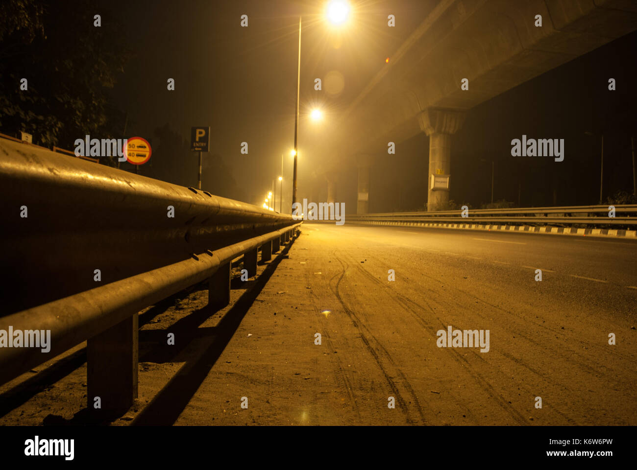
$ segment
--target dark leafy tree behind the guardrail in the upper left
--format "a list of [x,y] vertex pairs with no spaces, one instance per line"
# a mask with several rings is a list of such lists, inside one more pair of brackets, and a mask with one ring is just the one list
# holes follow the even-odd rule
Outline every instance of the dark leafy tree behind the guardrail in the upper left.
[[[121,138],[123,113],[108,89],[131,54],[104,1],[3,0],[0,6],[0,129],[34,143],[73,148],[86,134]],[[101,26],[94,15],[101,15]],[[27,79],[27,90],[20,80]],[[115,164],[111,159],[110,164]]]

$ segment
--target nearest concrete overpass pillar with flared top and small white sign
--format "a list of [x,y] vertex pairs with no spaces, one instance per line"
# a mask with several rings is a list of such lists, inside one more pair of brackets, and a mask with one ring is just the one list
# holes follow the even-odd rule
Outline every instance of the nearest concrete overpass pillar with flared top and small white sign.
[[[420,129],[429,136],[427,211],[447,209],[451,169],[451,136],[462,127],[465,116],[464,111],[443,108],[427,108],[420,113]],[[445,180],[447,181],[446,188],[444,187]]]

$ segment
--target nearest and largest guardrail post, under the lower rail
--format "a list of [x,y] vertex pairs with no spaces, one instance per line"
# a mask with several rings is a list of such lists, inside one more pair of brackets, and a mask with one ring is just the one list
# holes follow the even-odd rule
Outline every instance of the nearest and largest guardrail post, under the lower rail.
[[137,398],[138,330],[135,313],[87,341],[87,408],[92,415],[122,415]]

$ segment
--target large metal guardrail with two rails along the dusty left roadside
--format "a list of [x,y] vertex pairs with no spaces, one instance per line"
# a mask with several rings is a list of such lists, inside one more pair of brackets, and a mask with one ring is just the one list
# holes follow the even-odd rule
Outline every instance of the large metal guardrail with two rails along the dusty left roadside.
[[271,259],[301,225],[8,140],[0,140],[0,195],[0,329],[51,335],[48,353],[0,348],[0,383],[88,340],[89,408],[100,397],[99,409],[110,411],[136,396],[138,311],[206,279],[211,307],[227,305],[232,260],[243,255],[254,276],[258,250]]

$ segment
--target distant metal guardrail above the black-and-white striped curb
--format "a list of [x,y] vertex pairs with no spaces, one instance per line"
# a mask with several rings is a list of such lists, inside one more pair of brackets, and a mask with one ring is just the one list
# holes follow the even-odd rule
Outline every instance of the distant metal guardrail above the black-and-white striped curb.
[[397,212],[362,215],[347,215],[348,222],[374,224],[378,222],[419,222],[438,224],[540,224],[540,225],[637,225],[637,204],[618,204],[616,217],[608,217],[608,205],[605,206],[566,206],[543,208],[513,209],[474,209],[469,210],[467,217],[462,217],[461,210],[435,212]]

